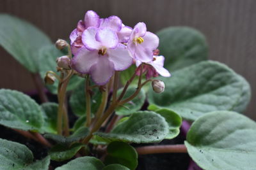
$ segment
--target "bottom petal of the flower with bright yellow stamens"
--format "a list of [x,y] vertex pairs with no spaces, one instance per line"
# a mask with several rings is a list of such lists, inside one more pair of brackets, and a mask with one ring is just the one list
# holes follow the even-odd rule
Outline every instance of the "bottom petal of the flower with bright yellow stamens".
[[148,50],[139,44],[136,45],[134,57],[136,60],[140,60],[141,62],[150,62],[153,60],[153,51]]

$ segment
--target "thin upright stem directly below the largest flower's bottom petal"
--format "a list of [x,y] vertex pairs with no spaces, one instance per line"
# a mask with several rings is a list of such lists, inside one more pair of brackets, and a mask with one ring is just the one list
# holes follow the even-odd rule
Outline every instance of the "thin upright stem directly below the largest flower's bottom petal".
[[90,76],[86,76],[85,81],[85,99],[86,99],[86,127],[90,127],[91,124],[91,96],[90,96]]

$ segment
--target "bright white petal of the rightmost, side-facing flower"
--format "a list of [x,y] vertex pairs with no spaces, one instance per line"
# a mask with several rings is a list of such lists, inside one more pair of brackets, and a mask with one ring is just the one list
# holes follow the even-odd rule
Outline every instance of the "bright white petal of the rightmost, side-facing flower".
[[150,62],[149,64],[153,66],[154,69],[156,69],[157,73],[159,73],[161,76],[170,77],[171,76],[170,72],[163,67],[164,57],[162,55],[155,56],[155,57],[156,57],[156,60],[154,60],[153,62]]

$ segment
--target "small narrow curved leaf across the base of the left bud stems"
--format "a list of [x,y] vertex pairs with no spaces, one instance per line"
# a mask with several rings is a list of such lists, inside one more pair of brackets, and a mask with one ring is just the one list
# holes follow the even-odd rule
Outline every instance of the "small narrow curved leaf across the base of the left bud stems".
[[77,129],[72,135],[65,137],[58,134],[45,134],[45,138],[52,139],[56,141],[56,143],[60,143],[61,145],[69,145],[70,143],[79,141],[80,139],[85,138],[89,134],[89,129],[87,127],[81,127]]

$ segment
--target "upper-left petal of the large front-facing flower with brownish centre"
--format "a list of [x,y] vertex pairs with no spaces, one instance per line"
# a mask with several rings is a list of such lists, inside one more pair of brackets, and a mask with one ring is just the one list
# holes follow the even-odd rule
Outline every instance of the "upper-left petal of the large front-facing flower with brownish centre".
[[95,39],[97,29],[95,27],[89,27],[82,34],[82,41],[84,46],[88,50],[99,50],[101,43]]

